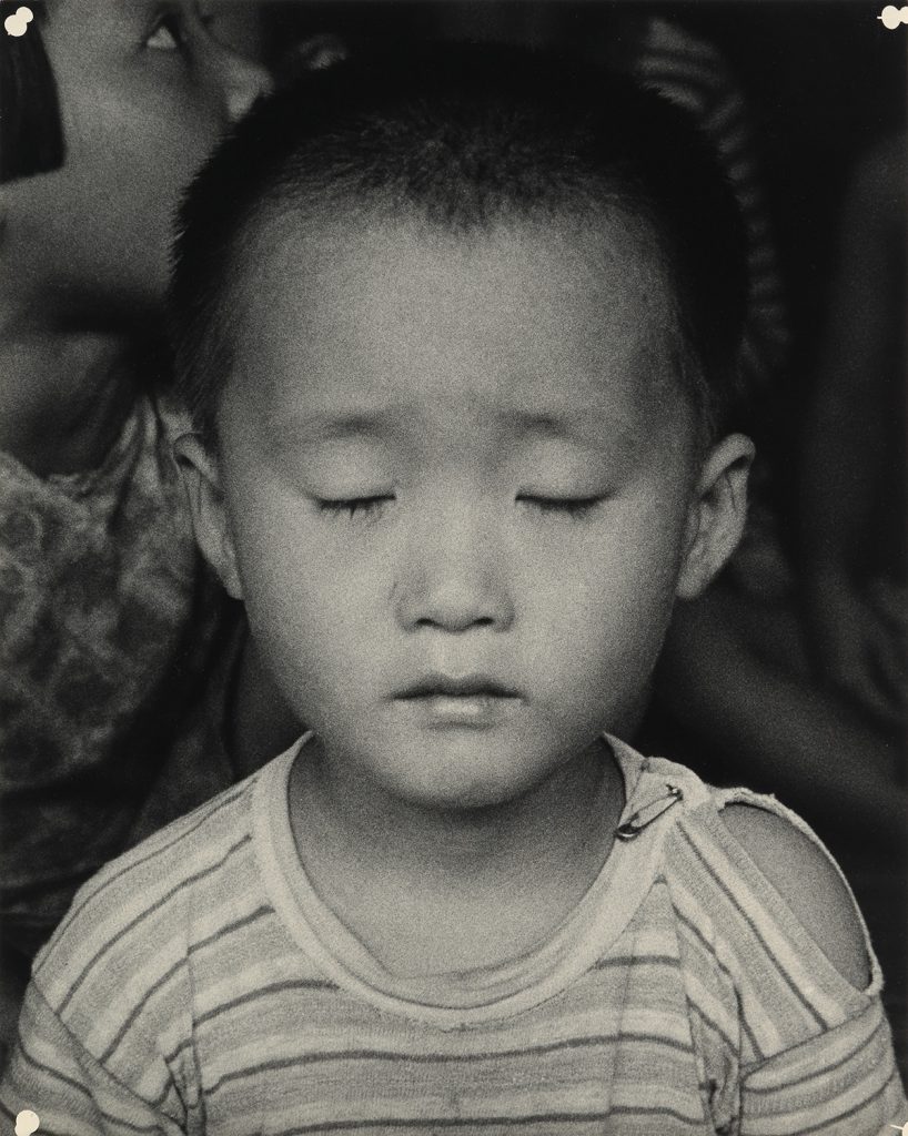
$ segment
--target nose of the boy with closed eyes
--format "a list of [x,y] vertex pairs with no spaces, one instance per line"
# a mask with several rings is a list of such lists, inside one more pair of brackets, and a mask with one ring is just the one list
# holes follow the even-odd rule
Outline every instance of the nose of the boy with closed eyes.
[[507,630],[514,621],[500,540],[472,510],[447,509],[413,534],[394,586],[407,630]]

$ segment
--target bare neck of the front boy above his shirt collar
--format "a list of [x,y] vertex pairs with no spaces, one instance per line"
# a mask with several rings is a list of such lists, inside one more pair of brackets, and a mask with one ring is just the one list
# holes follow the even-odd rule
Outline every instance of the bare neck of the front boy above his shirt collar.
[[297,760],[290,794],[316,892],[401,974],[489,966],[532,949],[595,879],[624,807],[620,771],[600,742],[489,809],[435,811],[338,784],[317,743]]

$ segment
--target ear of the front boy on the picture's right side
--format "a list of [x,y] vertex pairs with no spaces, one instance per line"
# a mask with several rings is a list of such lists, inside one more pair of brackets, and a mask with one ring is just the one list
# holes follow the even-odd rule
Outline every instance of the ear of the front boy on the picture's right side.
[[675,595],[693,600],[734,552],[744,531],[753,443],[728,434],[707,454],[688,513],[684,559]]

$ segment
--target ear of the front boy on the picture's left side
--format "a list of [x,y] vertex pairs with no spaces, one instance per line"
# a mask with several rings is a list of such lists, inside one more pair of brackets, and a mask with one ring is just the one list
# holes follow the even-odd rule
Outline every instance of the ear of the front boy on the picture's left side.
[[181,435],[174,442],[174,456],[189,496],[195,543],[220,577],[227,594],[234,600],[242,600],[242,583],[236,569],[236,553],[224,508],[217,461],[198,434]]

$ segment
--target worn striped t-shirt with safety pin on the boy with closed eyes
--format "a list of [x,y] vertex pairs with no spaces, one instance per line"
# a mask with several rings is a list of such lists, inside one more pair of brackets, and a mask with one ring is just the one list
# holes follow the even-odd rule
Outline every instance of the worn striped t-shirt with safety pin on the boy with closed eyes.
[[170,825],[95,876],[39,955],[10,1131],[26,1108],[41,1136],[908,1121],[873,955],[856,989],[720,818],[781,807],[613,750],[630,838],[547,942],[469,972],[392,975],[319,901],[289,819],[299,745]]

